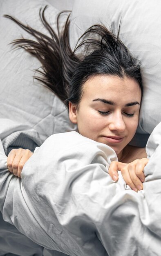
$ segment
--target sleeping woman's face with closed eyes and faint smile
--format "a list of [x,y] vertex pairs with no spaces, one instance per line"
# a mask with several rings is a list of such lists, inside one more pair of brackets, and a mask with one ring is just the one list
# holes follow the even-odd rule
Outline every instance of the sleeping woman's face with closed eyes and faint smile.
[[136,132],[140,104],[141,89],[134,79],[97,75],[83,85],[79,108],[69,103],[69,118],[81,135],[110,146],[118,155]]

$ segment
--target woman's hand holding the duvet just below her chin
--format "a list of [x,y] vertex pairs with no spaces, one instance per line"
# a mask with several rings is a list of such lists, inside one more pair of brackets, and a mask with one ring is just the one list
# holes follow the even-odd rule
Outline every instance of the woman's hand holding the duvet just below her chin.
[[142,158],[136,159],[129,164],[113,161],[109,167],[109,174],[114,181],[118,180],[117,171],[121,171],[123,179],[126,184],[130,186],[134,191],[138,191],[143,189],[143,184],[145,180],[145,175],[143,173],[143,169],[146,164],[148,164],[149,159]]

